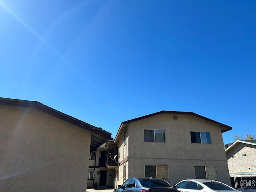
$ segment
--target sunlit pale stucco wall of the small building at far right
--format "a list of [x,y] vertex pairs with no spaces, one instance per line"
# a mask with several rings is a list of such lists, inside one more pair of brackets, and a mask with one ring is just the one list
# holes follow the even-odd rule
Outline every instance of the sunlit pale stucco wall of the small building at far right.
[[238,143],[226,153],[226,156],[230,176],[256,176],[256,146]]

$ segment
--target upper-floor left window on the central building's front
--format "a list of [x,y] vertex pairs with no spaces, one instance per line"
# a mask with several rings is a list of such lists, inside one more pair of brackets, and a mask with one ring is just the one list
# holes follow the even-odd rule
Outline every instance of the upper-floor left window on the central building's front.
[[144,141],[146,142],[165,142],[164,130],[144,130]]

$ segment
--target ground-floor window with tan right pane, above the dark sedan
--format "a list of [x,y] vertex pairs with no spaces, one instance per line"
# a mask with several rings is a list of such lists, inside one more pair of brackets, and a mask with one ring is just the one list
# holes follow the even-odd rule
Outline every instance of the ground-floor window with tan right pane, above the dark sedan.
[[145,177],[169,180],[167,165],[145,165]]

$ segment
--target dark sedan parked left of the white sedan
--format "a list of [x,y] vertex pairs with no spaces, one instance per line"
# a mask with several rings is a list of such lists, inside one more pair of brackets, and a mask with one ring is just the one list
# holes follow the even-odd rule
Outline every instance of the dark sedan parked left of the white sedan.
[[163,179],[152,177],[129,178],[118,185],[116,192],[179,192]]

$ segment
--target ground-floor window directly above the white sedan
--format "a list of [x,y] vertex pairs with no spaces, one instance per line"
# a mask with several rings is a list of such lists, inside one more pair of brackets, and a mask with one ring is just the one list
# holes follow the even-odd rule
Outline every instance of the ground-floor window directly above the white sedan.
[[218,180],[216,167],[195,166],[196,179]]

